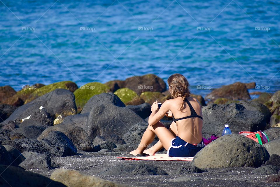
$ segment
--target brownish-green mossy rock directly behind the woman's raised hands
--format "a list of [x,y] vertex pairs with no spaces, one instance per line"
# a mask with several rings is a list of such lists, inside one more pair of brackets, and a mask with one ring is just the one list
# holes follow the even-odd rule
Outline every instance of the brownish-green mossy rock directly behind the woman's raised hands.
[[155,101],[157,101],[158,103],[163,103],[167,99],[171,98],[170,95],[165,96],[164,94],[158,91],[145,91],[141,93],[140,97],[150,105],[152,105]]

